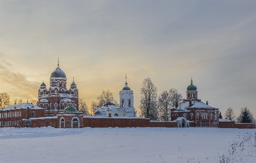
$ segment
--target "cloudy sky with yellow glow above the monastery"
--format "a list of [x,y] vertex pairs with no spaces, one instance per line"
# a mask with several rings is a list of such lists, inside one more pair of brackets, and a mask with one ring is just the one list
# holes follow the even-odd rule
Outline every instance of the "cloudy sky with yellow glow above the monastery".
[[[60,68],[90,107],[102,90],[119,101],[128,86],[139,113],[147,77],[185,98],[191,77],[198,98],[224,114],[256,116],[256,1],[0,0],[0,92],[37,99]],[[69,87],[68,87],[69,88]]]

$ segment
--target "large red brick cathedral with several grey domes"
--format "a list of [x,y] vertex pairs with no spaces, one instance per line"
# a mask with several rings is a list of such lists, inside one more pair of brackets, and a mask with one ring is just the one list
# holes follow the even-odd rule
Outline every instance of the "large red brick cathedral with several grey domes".
[[49,89],[44,82],[38,89],[37,106],[45,108],[45,116],[56,116],[69,104],[78,109],[78,91],[74,80],[71,87],[67,89],[66,74],[60,69],[58,63],[58,67],[51,73]]

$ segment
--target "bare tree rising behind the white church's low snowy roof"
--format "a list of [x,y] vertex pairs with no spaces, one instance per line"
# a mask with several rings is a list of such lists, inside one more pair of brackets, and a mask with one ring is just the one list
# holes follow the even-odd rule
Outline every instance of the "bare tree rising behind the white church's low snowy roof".
[[119,106],[117,100],[114,99],[113,93],[110,92],[109,89],[107,91],[103,90],[102,94],[97,96],[97,100],[100,100],[98,101],[99,107],[107,104],[108,102],[112,102],[113,104]]

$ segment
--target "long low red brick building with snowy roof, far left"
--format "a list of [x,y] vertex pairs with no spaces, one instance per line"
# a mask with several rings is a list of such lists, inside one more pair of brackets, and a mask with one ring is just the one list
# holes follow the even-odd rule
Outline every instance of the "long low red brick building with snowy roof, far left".
[[22,119],[27,117],[44,117],[44,109],[29,103],[16,104],[0,110],[0,127],[23,127]]

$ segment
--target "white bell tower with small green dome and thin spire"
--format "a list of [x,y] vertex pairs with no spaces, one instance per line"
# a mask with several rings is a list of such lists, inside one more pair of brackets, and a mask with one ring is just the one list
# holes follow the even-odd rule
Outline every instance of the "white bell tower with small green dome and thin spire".
[[127,86],[125,75],[125,87],[119,92],[120,107],[125,109],[125,117],[136,117],[136,110],[133,107],[133,91]]

